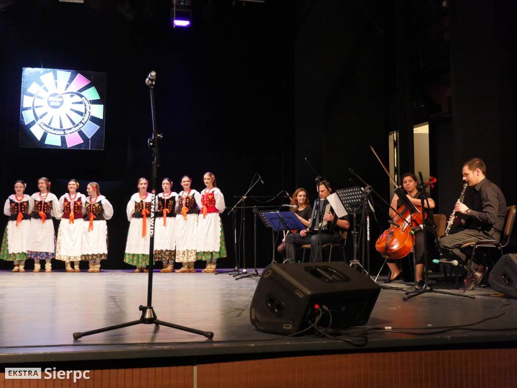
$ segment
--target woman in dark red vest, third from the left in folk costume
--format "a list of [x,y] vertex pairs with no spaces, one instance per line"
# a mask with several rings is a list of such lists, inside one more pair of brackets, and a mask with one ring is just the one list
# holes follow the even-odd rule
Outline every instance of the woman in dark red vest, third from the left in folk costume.
[[[68,182],[68,194],[59,198],[59,209],[63,212],[57,230],[56,259],[65,262],[66,272],[81,272],[83,217],[86,214],[86,197],[77,191],[79,182]],[[72,269],[71,262],[73,261]]]

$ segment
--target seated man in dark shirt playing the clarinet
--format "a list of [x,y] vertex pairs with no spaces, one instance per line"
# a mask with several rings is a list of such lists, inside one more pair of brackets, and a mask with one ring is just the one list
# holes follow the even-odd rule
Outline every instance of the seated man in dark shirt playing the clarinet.
[[[454,213],[461,213],[466,219],[454,216],[454,225],[465,229],[440,238],[440,253],[448,260],[458,259],[461,266],[453,267],[457,275],[466,274],[466,255],[460,247],[466,243],[491,238],[499,241],[506,217],[506,200],[503,192],[486,177],[486,166],[480,158],[467,160],[463,165],[463,180],[474,190],[472,203],[457,202]],[[452,217],[452,215],[451,215]],[[478,285],[486,272],[487,263],[472,263],[472,273],[465,279],[465,288],[472,290]]]

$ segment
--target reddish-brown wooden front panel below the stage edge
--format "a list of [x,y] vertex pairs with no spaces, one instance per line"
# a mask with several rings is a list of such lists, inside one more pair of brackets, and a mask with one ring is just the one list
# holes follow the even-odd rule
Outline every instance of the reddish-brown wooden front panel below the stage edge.
[[[279,357],[222,363],[83,369],[69,378],[48,366],[40,380],[6,379],[0,388],[38,387],[368,387],[514,388],[516,349],[371,352]],[[55,368],[55,369],[54,369]],[[73,379],[73,377],[77,379]]]

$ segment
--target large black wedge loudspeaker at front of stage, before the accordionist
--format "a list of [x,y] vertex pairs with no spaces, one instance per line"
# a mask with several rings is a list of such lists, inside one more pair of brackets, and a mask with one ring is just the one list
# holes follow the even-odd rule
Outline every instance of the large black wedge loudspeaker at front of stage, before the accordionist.
[[262,273],[250,306],[258,331],[294,334],[307,329],[326,306],[318,326],[340,329],[370,318],[381,287],[344,262],[271,263]]

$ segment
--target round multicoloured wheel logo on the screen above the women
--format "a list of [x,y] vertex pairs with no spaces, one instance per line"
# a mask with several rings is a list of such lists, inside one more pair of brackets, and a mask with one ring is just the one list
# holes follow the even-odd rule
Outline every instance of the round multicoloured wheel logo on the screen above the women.
[[54,71],[33,78],[25,92],[22,88],[23,122],[38,141],[47,133],[47,146],[61,147],[64,137],[66,146],[72,147],[83,143],[79,131],[88,139],[95,135],[99,126],[91,118],[103,120],[104,105],[93,102],[100,97],[95,86],[88,87],[90,81],[86,77],[76,73],[69,82],[72,72]]

